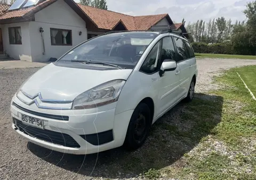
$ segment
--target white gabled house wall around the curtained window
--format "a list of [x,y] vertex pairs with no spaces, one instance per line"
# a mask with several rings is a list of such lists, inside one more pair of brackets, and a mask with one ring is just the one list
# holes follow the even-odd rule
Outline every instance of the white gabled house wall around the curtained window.
[[[43,28],[43,41],[39,28]],[[72,31],[72,46],[52,46],[50,28],[67,29]],[[79,31],[82,35],[79,36]],[[31,56],[33,62],[48,61],[50,57],[59,58],[69,49],[87,39],[85,21],[63,0],[59,0],[35,14],[35,21],[29,22]]]

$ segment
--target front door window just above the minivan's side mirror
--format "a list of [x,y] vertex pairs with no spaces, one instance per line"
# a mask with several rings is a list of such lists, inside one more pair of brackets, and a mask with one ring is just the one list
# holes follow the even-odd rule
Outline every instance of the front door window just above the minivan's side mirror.
[[161,62],[163,62],[165,59],[174,60],[175,59],[174,57],[175,57],[175,49],[174,49],[172,37],[164,37]]

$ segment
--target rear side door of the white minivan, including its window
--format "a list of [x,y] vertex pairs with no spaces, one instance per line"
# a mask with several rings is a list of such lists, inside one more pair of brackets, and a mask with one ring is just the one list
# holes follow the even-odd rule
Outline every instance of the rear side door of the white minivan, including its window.
[[181,99],[187,96],[190,85],[190,67],[188,52],[183,40],[178,37],[173,37],[177,47],[177,64],[180,67],[180,88],[178,98]]

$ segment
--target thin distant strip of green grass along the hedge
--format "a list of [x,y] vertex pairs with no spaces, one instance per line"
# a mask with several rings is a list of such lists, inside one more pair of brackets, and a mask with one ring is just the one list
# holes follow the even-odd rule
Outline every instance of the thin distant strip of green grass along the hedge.
[[203,54],[203,53],[195,53],[195,55],[197,58],[256,59],[256,56],[250,56],[250,55]]

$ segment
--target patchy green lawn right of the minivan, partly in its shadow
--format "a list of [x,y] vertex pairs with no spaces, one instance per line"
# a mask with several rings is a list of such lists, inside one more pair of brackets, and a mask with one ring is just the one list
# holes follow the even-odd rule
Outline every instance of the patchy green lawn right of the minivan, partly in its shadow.
[[255,179],[256,101],[237,72],[256,93],[256,66],[233,68],[215,77],[221,89],[197,94],[183,105],[183,127],[175,121],[162,124],[173,139],[195,147],[169,167],[150,169],[146,176],[159,177],[160,172],[179,179]]

